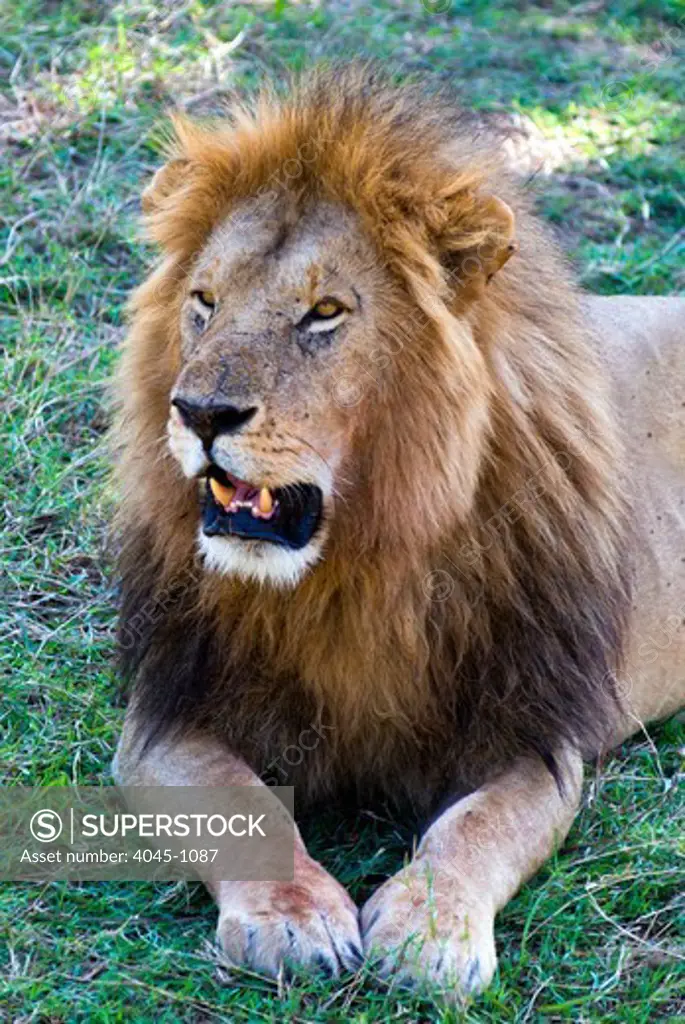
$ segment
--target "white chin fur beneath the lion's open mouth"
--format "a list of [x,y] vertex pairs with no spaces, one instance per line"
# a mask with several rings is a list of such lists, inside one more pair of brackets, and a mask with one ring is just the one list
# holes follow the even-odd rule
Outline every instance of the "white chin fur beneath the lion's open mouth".
[[292,551],[268,542],[207,537],[202,527],[198,543],[208,569],[276,587],[295,587],[318,561],[324,547],[323,541],[316,539],[299,551]]

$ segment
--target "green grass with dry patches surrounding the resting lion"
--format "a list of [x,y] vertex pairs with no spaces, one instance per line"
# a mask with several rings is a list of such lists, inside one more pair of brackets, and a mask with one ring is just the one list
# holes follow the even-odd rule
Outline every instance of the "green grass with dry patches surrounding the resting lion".
[[[517,112],[536,126],[551,172],[531,187],[587,288],[683,290],[685,5],[444,6],[0,6],[7,780],[106,780],[123,717],[106,381],[126,294],[149,255],[136,234],[138,195],[165,109],[211,112],[236,86],[330,53],[397,60],[415,77],[449,80],[487,116]],[[672,722],[653,739],[588,769],[563,851],[501,915],[495,985],[463,1012],[363,972],[281,988],[228,977],[209,941],[211,902],[192,886],[5,884],[0,1019],[675,1021],[685,993],[685,729]],[[311,836],[357,897],[401,862],[405,842],[363,816],[353,830],[332,816]]]

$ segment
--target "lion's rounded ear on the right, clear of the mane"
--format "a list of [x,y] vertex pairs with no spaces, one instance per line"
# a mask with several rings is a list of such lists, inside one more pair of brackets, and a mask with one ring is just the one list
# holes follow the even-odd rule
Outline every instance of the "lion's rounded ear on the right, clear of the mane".
[[479,198],[469,214],[470,223],[461,238],[457,230],[454,239],[443,240],[442,248],[449,283],[465,302],[478,298],[518,250],[514,211],[499,196]]

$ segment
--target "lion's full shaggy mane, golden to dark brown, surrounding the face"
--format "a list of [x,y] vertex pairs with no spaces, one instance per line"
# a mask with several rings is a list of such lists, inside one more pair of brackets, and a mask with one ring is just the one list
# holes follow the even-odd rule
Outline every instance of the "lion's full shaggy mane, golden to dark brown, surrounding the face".
[[[164,258],[132,301],[119,383],[120,636],[149,736],[209,728],[303,797],[420,807],[513,757],[595,748],[630,603],[619,457],[567,269],[499,141],[448,98],[354,68],[213,126],[177,119],[170,157],[143,198]],[[387,383],[359,406],[368,514],[336,520],[292,592],[203,571],[197,488],[162,447],[179,286],[264,190],[354,210],[415,311],[379,339]],[[484,287],[493,197],[520,252]],[[311,727],[325,739],[284,762]]]

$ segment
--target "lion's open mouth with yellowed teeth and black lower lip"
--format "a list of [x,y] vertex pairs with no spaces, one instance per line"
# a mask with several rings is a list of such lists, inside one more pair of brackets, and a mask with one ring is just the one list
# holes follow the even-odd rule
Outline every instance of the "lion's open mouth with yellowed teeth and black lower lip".
[[207,470],[202,528],[207,537],[267,541],[297,550],[318,527],[324,496],[313,483],[259,487],[218,466]]

